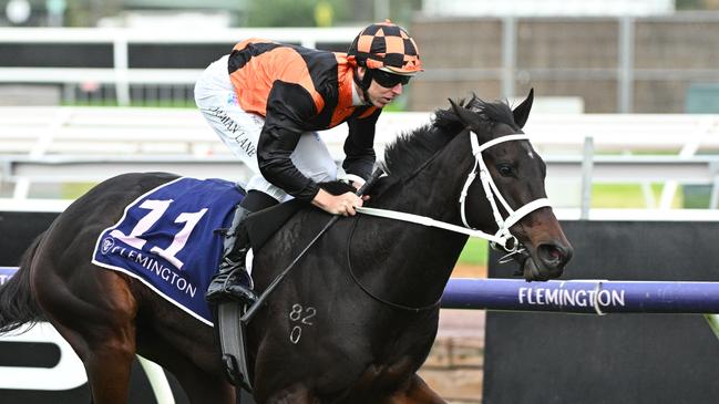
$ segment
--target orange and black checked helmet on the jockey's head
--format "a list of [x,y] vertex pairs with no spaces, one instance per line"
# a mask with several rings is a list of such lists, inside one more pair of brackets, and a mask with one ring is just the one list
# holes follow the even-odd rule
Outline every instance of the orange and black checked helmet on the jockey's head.
[[412,37],[390,20],[363,29],[347,51],[357,64],[396,74],[413,75],[422,71],[420,51]]

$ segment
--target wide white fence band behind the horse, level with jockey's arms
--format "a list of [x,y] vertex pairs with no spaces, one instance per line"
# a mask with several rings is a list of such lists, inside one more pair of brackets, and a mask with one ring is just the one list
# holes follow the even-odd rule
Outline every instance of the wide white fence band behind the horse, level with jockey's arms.
[[[398,134],[430,120],[430,113],[382,114],[378,156]],[[322,133],[337,159],[346,131],[340,125]],[[647,191],[649,207],[666,207],[676,184],[719,184],[719,115],[534,114],[525,132],[547,162],[547,191],[559,206],[581,205],[583,182],[585,189],[589,182],[667,183],[660,203]],[[248,175],[196,110],[0,108],[0,185],[17,199],[31,195],[33,184],[99,182],[136,170]]]

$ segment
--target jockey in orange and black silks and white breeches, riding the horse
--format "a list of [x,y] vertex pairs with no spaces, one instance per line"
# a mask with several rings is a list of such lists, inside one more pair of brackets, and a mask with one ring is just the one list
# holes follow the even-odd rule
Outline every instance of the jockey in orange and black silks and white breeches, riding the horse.
[[250,213],[297,198],[331,215],[355,215],[360,197],[335,196],[318,186],[336,180],[338,167],[316,131],[347,122],[342,169],[359,188],[374,164],[382,107],[420,71],[414,40],[389,20],[364,28],[347,53],[249,39],[205,70],[195,85],[197,106],[255,174],[207,301],[249,305],[257,298],[245,270],[249,240],[243,221]]

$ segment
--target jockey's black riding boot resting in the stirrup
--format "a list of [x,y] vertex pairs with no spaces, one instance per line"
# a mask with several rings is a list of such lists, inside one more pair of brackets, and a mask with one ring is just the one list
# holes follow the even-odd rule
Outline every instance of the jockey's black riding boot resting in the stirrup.
[[219,268],[205,293],[205,300],[210,303],[234,300],[250,307],[257,301],[257,293],[253,291],[253,280],[245,266],[249,237],[244,221],[249,214],[251,211],[242,206],[235,209],[233,228],[225,235],[225,248]]

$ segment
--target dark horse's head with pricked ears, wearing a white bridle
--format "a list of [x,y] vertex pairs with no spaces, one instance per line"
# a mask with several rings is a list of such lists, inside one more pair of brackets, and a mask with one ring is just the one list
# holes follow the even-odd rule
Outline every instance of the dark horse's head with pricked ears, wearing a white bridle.
[[562,274],[573,249],[546,199],[546,165],[522,132],[532,101],[533,91],[514,111],[476,97],[450,102],[471,131],[476,172],[465,185],[463,220],[500,237],[525,279],[547,280]]

